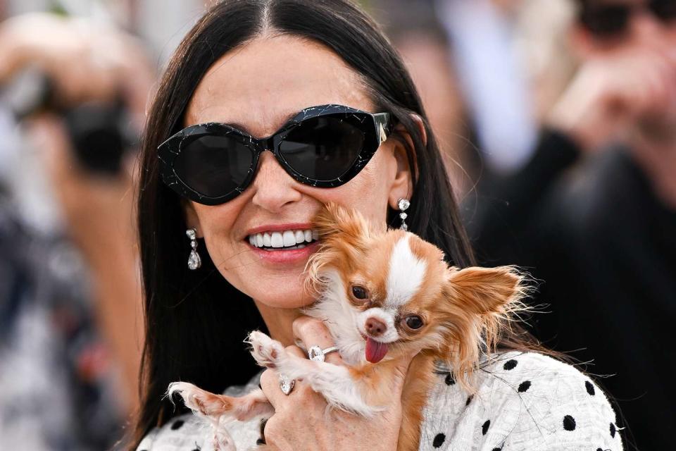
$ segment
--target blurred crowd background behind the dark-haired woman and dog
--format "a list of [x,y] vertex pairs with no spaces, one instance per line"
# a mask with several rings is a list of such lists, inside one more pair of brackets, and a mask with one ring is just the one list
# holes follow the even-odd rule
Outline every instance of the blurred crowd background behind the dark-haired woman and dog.
[[[420,89],[480,264],[539,280],[530,330],[608,390],[626,449],[671,449],[676,0],[360,3]],[[0,0],[0,450],[120,446],[134,157],[208,4]]]

